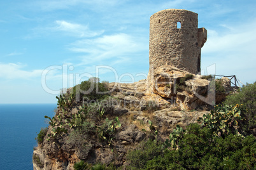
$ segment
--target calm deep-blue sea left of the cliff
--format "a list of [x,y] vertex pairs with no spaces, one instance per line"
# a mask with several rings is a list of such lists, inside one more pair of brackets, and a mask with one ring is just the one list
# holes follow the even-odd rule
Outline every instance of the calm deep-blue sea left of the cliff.
[[56,104],[0,104],[0,169],[33,169],[32,152],[40,129]]

